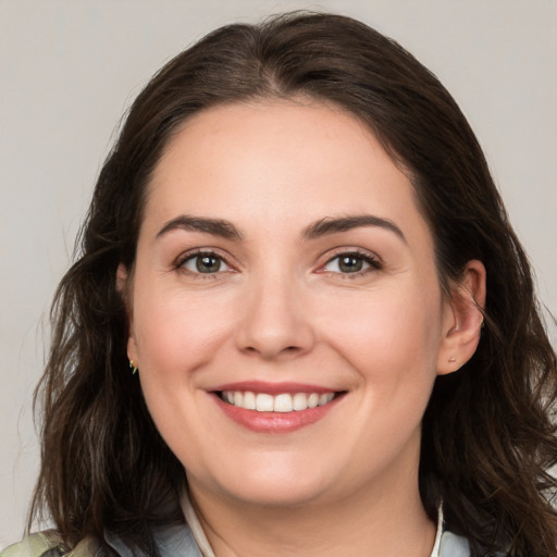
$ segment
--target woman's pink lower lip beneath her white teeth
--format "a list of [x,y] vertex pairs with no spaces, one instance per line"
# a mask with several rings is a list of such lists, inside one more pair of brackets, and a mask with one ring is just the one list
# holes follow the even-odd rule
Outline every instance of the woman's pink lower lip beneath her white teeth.
[[292,412],[258,412],[246,410],[238,406],[225,403],[218,394],[213,397],[219,408],[237,424],[256,433],[292,433],[294,431],[311,425],[324,418],[341,400],[344,395],[336,396],[331,403],[307,408],[306,410],[294,410]]

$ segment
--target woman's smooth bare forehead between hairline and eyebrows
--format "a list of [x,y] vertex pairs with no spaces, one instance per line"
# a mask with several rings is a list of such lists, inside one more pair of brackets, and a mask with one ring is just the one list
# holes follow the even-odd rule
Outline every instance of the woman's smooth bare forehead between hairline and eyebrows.
[[220,106],[188,120],[154,169],[146,220],[181,211],[267,227],[362,212],[424,226],[410,181],[369,127],[309,101]]

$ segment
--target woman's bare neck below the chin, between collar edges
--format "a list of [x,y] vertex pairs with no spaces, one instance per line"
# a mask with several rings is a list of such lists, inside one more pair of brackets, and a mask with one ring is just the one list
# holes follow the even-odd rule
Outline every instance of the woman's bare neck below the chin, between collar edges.
[[399,482],[394,491],[360,490],[344,499],[273,507],[227,500],[190,485],[216,557],[429,557],[435,525],[417,481],[416,488],[407,487]]

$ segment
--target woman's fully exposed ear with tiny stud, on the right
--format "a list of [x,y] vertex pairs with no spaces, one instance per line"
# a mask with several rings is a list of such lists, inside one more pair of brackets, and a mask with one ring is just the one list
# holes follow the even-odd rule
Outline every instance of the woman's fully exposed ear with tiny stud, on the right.
[[459,370],[475,352],[483,324],[485,283],[485,267],[474,259],[467,263],[461,280],[451,286],[443,314],[437,374]]

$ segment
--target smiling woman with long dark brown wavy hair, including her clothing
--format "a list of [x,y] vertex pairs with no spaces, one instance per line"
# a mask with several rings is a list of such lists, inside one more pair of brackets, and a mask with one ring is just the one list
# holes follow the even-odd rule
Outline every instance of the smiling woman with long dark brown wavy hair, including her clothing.
[[55,531],[4,555],[557,555],[527,258],[395,42],[209,35],[132,107],[82,248],[41,382]]

